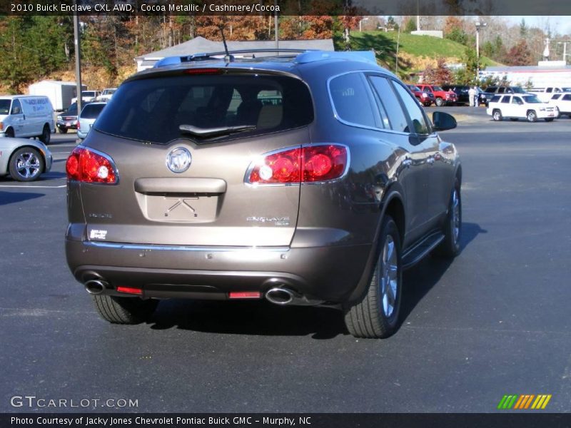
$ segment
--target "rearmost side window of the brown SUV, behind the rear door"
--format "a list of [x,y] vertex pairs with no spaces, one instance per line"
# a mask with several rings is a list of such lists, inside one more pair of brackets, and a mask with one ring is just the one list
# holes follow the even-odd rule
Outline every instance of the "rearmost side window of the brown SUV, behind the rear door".
[[368,88],[360,73],[349,73],[333,78],[329,83],[333,107],[340,119],[356,125],[376,128]]

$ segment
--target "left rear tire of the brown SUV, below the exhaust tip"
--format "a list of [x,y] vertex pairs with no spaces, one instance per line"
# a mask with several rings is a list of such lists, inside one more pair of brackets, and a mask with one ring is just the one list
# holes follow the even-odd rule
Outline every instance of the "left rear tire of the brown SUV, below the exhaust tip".
[[94,295],[94,304],[95,309],[103,320],[113,324],[140,324],[153,315],[158,305],[158,300]]

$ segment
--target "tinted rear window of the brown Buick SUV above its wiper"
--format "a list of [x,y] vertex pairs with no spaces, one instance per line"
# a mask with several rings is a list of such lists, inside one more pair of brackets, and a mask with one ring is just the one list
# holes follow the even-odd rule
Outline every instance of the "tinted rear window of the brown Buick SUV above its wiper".
[[306,126],[313,121],[310,93],[301,81],[260,74],[168,76],[124,83],[97,119],[114,136],[166,144],[187,138],[178,127],[253,125],[253,136]]

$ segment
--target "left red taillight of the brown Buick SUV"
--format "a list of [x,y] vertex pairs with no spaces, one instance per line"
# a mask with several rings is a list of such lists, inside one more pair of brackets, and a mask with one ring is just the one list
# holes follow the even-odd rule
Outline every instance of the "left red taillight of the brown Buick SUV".
[[104,153],[78,146],[66,161],[68,180],[84,183],[117,183],[117,171],[113,160]]

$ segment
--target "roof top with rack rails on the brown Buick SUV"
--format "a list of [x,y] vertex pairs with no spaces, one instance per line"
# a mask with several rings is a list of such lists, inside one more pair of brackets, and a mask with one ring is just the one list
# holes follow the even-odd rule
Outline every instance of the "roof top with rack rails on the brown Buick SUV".
[[285,57],[294,57],[296,63],[304,64],[315,61],[323,61],[326,59],[345,59],[351,61],[363,61],[376,64],[374,51],[315,51],[310,49],[243,49],[238,51],[229,51],[228,56],[225,51],[208,52],[205,54],[194,54],[186,56],[167,56],[159,60],[153,68],[161,68],[168,66],[178,66],[185,62],[208,61],[213,59],[228,58],[233,61],[234,54],[252,54],[252,58],[256,58],[256,54],[275,52],[276,54],[296,54],[285,55]]

